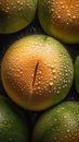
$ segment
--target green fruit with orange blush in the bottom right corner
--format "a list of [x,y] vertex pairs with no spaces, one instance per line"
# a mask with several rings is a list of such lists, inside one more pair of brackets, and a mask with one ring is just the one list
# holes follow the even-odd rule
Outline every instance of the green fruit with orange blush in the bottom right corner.
[[79,142],[79,102],[63,102],[41,115],[32,142]]

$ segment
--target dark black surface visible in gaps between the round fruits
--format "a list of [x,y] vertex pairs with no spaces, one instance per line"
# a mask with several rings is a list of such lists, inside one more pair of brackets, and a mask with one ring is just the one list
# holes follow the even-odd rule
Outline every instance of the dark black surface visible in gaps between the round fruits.
[[[16,39],[24,37],[26,35],[29,35],[29,34],[45,34],[43,32],[43,29],[41,28],[37,16],[29,26],[27,26],[26,28],[24,28],[17,33],[6,34],[6,35],[0,34],[0,66],[1,66],[1,61],[4,56],[4,52],[10,47],[10,45],[12,43],[14,43]],[[73,58],[73,62],[75,63],[76,57],[79,55],[79,44],[65,45],[65,47],[69,51],[69,54]],[[1,76],[0,76],[0,94],[8,96],[2,86]],[[79,94],[77,93],[76,87],[75,87],[75,80],[74,80],[74,84],[73,84],[67,97],[64,100],[79,100]],[[35,122],[36,122],[37,118],[39,117],[39,115],[41,115],[42,111],[36,113],[36,111],[29,111],[29,110],[23,109],[23,113],[28,118],[29,132],[31,134]]]

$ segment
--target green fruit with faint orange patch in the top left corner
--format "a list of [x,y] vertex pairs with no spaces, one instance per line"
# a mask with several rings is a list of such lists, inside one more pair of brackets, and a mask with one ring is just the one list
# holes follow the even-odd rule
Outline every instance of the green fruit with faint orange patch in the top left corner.
[[0,33],[24,28],[34,20],[36,9],[37,0],[0,0]]

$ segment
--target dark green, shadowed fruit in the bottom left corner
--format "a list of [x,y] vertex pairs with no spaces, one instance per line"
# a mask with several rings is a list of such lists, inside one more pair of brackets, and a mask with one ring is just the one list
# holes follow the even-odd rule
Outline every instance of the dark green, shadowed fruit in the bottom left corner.
[[9,98],[0,96],[0,141],[28,142],[28,126]]

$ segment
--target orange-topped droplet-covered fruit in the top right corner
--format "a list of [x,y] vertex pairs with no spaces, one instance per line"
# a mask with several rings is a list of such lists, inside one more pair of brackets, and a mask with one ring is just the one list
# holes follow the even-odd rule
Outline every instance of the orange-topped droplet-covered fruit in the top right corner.
[[49,35],[64,43],[79,43],[78,0],[39,0],[38,16]]

